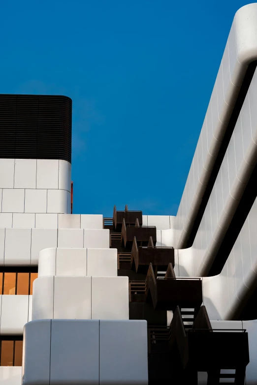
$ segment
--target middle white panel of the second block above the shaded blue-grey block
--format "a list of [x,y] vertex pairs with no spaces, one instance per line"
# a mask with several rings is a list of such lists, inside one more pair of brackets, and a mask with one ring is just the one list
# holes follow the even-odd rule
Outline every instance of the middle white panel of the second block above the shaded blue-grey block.
[[87,249],[56,250],[56,275],[87,276]]

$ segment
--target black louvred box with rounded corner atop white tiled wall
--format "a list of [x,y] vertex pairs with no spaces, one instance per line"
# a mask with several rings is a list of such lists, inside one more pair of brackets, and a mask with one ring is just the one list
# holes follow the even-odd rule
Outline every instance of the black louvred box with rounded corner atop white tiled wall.
[[66,96],[0,94],[0,158],[71,162],[71,110]]

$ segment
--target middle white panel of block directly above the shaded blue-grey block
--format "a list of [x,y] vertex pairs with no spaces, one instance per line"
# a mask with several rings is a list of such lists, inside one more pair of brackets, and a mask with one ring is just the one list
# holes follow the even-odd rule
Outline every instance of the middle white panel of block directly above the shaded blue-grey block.
[[54,318],[91,319],[91,277],[54,277]]

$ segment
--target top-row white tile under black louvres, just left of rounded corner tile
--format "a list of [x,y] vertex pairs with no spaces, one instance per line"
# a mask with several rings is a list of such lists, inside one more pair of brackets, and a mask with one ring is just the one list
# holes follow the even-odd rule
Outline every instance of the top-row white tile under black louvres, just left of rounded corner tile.
[[36,188],[58,189],[58,159],[37,159]]

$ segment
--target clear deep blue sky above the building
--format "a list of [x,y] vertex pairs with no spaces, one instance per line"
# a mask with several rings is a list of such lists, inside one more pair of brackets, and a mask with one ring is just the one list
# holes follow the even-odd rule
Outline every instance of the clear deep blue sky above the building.
[[176,215],[234,13],[247,2],[1,3],[0,92],[73,100],[74,213]]

